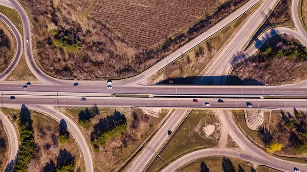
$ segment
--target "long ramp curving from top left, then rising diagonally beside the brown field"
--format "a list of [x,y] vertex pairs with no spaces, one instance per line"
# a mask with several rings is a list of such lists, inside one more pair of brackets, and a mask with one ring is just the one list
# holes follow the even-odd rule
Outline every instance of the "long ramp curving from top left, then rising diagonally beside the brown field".
[[[5,1],[5,0],[0,0],[0,1]],[[198,46],[199,44],[201,44],[201,42],[206,40],[208,37],[212,36],[216,32],[223,29],[225,26],[227,26],[228,24],[233,22],[236,18],[238,18],[239,16],[244,14],[246,11],[248,11],[250,8],[252,8],[254,5],[256,5],[258,2],[259,2],[259,0],[250,0],[245,5],[243,5],[242,7],[240,7],[236,11],[234,11],[232,14],[227,16],[225,19],[223,19],[221,22],[217,23],[212,28],[210,28],[206,32],[204,32],[203,34],[199,35],[198,37],[196,37],[193,40],[191,40],[190,42],[188,42],[186,45],[184,45],[181,48],[179,48],[178,50],[174,51],[169,56],[167,56],[164,59],[162,59],[161,61],[157,62],[155,65],[153,65],[148,70],[146,70],[143,73],[141,73],[141,74],[139,74],[135,77],[132,77],[132,78],[114,81],[113,84],[116,84],[116,85],[131,85],[131,84],[135,84],[135,83],[138,83],[138,82],[146,79],[147,77],[151,76],[152,74],[155,74],[156,72],[158,72],[159,70],[161,70],[162,68],[167,66],[169,63],[171,63],[172,61],[174,61],[177,58],[179,58],[180,56],[182,56],[184,53],[190,51],[195,46]],[[43,72],[37,66],[35,59],[34,59],[34,56],[32,54],[31,26],[30,26],[30,20],[28,18],[27,12],[25,11],[25,9],[21,6],[21,4],[18,1],[12,0],[9,3],[10,3],[9,6],[13,7],[17,11],[17,13],[19,14],[21,21],[23,23],[24,42],[25,42],[24,46],[25,46],[25,54],[26,54],[25,58],[26,58],[29,70],[42,83],[62,84],[62,85],[72,84],[72,82],[74,82],[74,80],[64,81],[64,80],[53,78],[53,77],[49,76],[48,74],[46,74],[45,72]],[[30,38],[28,43],[25,41],[27,38]],[[89,85],[89,86],[91,86],[93,84],[94,85],[105,85],[105,86],[107,85],[106,82],[89,82],[89,81],[79,81],[79,84]]]

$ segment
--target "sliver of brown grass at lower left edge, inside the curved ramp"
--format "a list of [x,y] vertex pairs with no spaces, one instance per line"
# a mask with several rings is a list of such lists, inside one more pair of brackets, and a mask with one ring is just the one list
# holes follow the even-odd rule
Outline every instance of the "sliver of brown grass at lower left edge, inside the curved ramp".
[[9,157],[9,140],[4,130],[4,125],[0,121],[0,170],[5,171]]

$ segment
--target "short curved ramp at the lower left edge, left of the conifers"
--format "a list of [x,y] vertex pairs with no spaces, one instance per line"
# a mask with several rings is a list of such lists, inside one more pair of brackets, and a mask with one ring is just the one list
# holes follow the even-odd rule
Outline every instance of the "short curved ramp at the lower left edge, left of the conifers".
[[7,165],[7,169],[5,171],[12,171],[13,170],[13,165],[15,163],[16,160],[16,156],[18,153],[18,132],[16,131],[16,127],[14,126],[14,124],[12,123],[12,121],[6,116],[4,115],[1,111],[0,111],[0,120],[2,120],[2,123],[4,125],[4,129],[5,132],[8,136],[8,140],[9,140],[9,159],[8,159],[8,165]]

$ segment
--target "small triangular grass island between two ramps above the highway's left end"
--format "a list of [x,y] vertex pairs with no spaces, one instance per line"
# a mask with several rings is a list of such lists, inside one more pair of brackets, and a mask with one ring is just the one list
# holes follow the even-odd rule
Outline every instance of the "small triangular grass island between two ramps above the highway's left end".
[[36,81],[37,79],[29,71],[24,55],[18,61],[17,66],[12,73],[5,79],[7,81]]

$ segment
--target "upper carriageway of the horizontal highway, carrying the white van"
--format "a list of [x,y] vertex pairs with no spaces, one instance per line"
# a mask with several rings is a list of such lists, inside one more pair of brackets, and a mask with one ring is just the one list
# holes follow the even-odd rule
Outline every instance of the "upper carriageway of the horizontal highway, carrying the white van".
[[[26,90],[25,84],[0,84],[0,93],[11,91],[11,94],[35,94],[35,92],[49,93],[76,93],[81,96],[82,93],[109,93],[109,94],[165,94],[165,95],[307,95],[306,88],[281,87],[281,86],[193,86],[193,85],[153,85],[139,87],[117,87],[112,89],[106,87],[88,87],[79,84],[73,85],[43,85],[31,84]],[[28,93],[32,92],[32,93]]]

